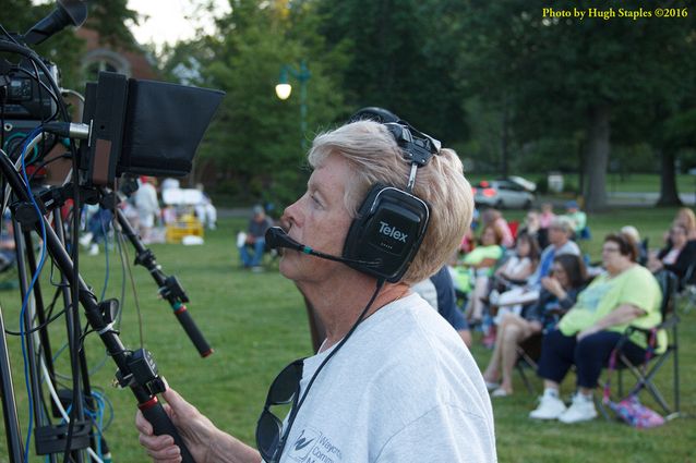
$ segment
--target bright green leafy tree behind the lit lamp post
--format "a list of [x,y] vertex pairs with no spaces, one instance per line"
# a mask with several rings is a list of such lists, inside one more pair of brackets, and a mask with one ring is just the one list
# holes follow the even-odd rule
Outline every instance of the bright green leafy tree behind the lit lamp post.
[[[295,21],[309,22],[311,12],[291,11],[286,2],[235,0],[231,5],[214,35],[169,50],[166,70],[227,93],[197,159],[216,166],[218,193],[287,203],[305,186],[298,173],[304,162],[301,138],[311,139],[336,120],[343,111],[341,94],[324,71],[326,62],[298,38]],[[301,37],[319,40],[311,29]],[[305,134],[300,134],[297,89],[286,101],[274,93],[281,65],[297,66],[302,59],[311,71]],[[292,84],[297,88],[297,81]]]

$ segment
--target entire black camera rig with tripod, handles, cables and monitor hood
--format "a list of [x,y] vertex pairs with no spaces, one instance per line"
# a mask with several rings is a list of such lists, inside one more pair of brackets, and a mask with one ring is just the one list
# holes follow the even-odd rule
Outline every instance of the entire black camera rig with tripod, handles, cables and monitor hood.
[[[183,461],[192,462],[191,454],[157,399],[164,383],[152,353],[144,349],[130,350],[122,344],[115,325],[119,302],[98,301],[80,276],[79,211],[84,203],[99,204],[113,211],[118,229],[136,251],[135,264],[147,268],[159,294],[171,305],[199,353],[209,355],[213,350],[187,310],[184,303],[189,298],[179,280],[161,271],[152,251],[144,246],[119,210],[118,203],[122,197],[117,185],[121,178],[134,174],[188,174],[196,147],[224,94],[100,73],[96,83],[87,84],[82,122],[72,122],[57,83],[56,66],[29,48],[68,25],[80,26],[85,21],[87,11],[82,1],[58,0],[57,4],[50,15],[23,35],[9,34],[0,27],[0,52],[17,58],[16,62],[0,59],[0,212],[4,214],[8,205],[12,212],[23,301],[19,334],[26,351],[29,423],[32,419],[36,423],[36,454],[46,454],[53,462],[57,454],[63,452],[64,461],[83,462],[87,459],[86,449],[91,458],[99,461],[94,450],[106,446],[89,418],[95,404],[82,349],[85,333],[77,310],[82,306],[91,329],[98,334],[109,357],[117,364],[118,385],[131,389],[140,410],[153,424],[155,434],[171,435],[181,448]],[[72,160],[72,178],[65,179],[62,186],[47,187],[29,178],[27,171],[32,165],[35,169],[45,165],[44,157],[58,139],[64,141],[65,157]],[[29,149],[35,150],[31,159],[27,157]],[[65,244],[65,228],[60,214],[68,199],[73,203],[70,246]],[[38,242],[33,237],[36,233],[40,237]],[[65,306],[72,390],[51,391],[55,407],[61,409],[60,403],[71,406],[70,416],[63,415],[69,423],[63,424],[51,423],[46,413],[50,407],[44,401],[44,387],[55,383],[47,328],[57,317],[46,313],[37,278],[46,255],[43,252],[37,261],[35,245],[39,242],[61,273],[53,302],[62,293]],[[31,297],[34,303],[27,304]],[[0,395],[8,454],[11,463],[26,462],[29,438],[27,436],[23,440],[20,430],[7,332],[0,310]],[[44,381],[39,379],[41,370],[46,375]]]

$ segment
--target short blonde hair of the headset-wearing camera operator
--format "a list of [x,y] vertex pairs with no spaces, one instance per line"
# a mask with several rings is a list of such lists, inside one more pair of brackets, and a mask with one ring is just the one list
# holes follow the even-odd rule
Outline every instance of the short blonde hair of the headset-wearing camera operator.
[[[376,122],[359,121],[314,138],[308,160],[313,168],[331,155],[343,157],[351,167],[344,204],[351,218],[375,183],[406,188],[410,163],[387,129]],[[412,194],[430,206],[430,223],[423,242],[401,278],[407,284],[424,280],[437,271],[461,242],[471,224],[473,196],[464,176],[461,161],[443,148],[418,169]]]

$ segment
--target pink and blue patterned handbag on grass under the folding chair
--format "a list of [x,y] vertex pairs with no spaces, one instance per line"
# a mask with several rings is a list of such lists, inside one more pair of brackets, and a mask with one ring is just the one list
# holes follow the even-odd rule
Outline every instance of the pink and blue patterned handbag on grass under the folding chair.
[[[646,361],[644,365],[647,364],[651,357],[655,345],[656,331],[657,330],[652,329],[650,332],[650,341],[646,351]],[[609,376],[611,376],[611,371],[616,369],[616,355],[619,355],[619,349],[621,348],[621,344],[622,343],[619,343],[616,345],[616,348],[612,351],[611,356],[609,357]],[[657,426],[662,426],[664,424],[664,417],[662,415],[640,403],[640,400],[638,399],[638,390],[636,388],[631,391],[627,398],[619,402],[614,402],[610,398],[610,380],[608,379],[607,383],[604,385],[604,394],[602,401],[616,414],[617,417],[635,428],[653,428]]]

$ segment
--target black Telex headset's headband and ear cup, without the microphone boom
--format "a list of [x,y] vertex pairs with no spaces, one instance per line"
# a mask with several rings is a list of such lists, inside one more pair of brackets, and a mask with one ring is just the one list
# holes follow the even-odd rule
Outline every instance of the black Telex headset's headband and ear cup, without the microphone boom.
[[418,252],[428,223],[428,204],[412,194],[418,168],[440,151],[441,144],[382,108],[364,108],[350,122],[381,122],[411,165],[406,188],[373,185],[353,219],[343,257],[348,266],[389,282],[401,279]]

